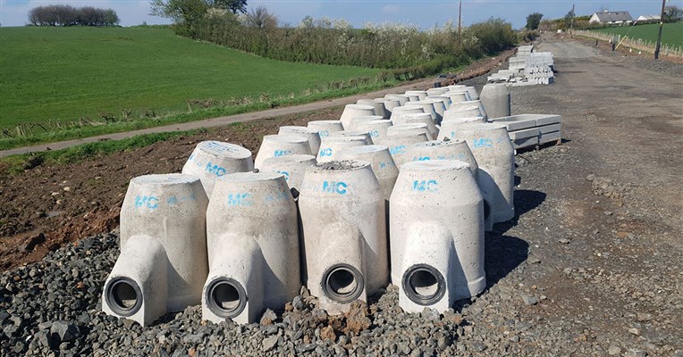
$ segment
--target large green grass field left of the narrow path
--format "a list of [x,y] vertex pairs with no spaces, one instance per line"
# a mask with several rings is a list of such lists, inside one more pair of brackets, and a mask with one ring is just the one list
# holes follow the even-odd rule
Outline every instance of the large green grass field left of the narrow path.
[[[122,111],[137,118],[188,112],[188,100],[298,96],[378,72],[278,62],[156,28],[0,28],[0,48],[0,129],[27,121],[101,120],[103,113]],[[75,137],[111,130],[90,131]]]

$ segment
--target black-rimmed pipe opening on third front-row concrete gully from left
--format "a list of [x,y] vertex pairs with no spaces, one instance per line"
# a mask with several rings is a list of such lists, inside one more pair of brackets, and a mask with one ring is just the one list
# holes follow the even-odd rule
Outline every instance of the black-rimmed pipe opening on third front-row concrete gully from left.
[[358,299],[364,284],[360,271],[349,264],[334,265],[323,275],[323,291],[337,303],[350,303]]

